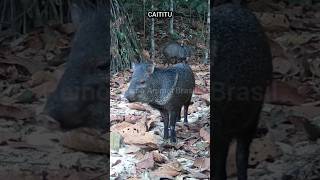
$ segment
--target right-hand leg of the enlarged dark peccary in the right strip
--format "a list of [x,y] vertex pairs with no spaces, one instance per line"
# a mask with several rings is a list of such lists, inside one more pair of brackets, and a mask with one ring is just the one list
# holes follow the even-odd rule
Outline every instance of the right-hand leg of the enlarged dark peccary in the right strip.
[[238,180],[247,180],[249,148],[251,141],[251,135],[244,135],[237,138],[236,162]]

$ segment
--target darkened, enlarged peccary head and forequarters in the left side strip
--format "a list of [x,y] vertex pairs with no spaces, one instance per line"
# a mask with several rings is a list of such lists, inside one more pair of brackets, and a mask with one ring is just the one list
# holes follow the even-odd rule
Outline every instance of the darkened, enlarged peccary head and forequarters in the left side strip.
[[77,31],[65,72],[49,96],[44,112],[63,128],[107,128],[109,18],[105,4],[84,8],[73,4]]

